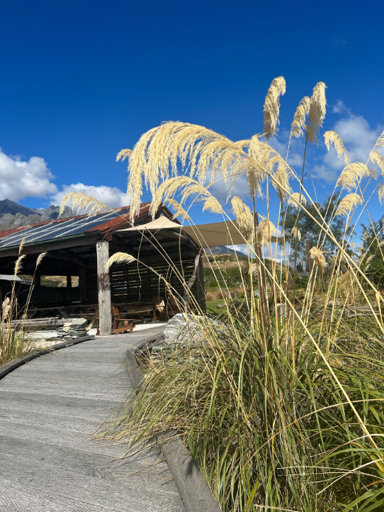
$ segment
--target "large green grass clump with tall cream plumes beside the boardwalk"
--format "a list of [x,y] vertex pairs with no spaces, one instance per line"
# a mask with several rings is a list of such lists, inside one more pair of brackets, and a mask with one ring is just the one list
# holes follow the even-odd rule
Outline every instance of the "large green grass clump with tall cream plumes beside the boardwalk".
[[[305,148],[308,142],[317,143],[324,91],[319,82],[295,113],[290,140],[305,133]],[[224,313],[208,318],[185,286],[198,333],[191,322],[186,347],[162,362],[145,364],[145,383],[108,418],[101,435],[128,443],[128,453],[176,429],[223,511],[384,510],[383,296],[364,272],[364,255],[356,262],[347,250],[352,221],[363,214],[371,219],[371,196],[364,194],[376,174],[368,162],[349,160],[339,135],[325,133],[328,149],[333,144],[345,165],[335,186],[340,187],[340,201],[327,210],[326,220],[303,173],[299,176],[288,165],[288,154],[284,160],[267,143],[278,131],[284,92],[285,81],[279,77],[264,105],[265,142],[260,134],[232,142],[202,126],[169,122],[142,135],[132,151],[119,153],[118,158],[129,160],[132,223],[143,180],[152,191],[152,214],[168,201],[188,219],[190,206],[201,201],[203,210],[230,220],[213,190],[223,180],[231,195],[244,175],[254,200],[268,184],[267,218],[258,225],[249,206],[232,197],[232,222],[247,240],[249,254],[249,277],[240,265],[239,273],[251,293],[241,306],[228,302]],[[384,133],[375,148],[384,148]],[[380,167],[380,154],[371,155]],[[317,245],[310,247],[312,271],[303,293],[290,286],[289,276],[297,260],[298,232],[292,258],[286,219],[271,214],[272,187],[281,200],[280,211],[289,201],[298,208],[298,219],[305,214],[320,228]],[[378,191],[381,200],[383,182]],[[345,218],[341,240],[331,229],[338,215]],[[265,257],[273,251],[276,255],[271,221],[283,238],[285,265],[276,256]],[[327,255],[324,243],[329,240],[335,250]],[[179,277],[182,281],[181,273]],[[259,297],[253,293],[257,288]]]

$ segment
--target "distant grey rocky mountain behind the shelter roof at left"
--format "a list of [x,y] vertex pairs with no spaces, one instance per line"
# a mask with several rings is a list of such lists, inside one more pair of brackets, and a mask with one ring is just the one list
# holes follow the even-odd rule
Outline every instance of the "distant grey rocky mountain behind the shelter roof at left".
[[[50,206],[38,210],[4,199],[4,201],[0,201],[0,230],[20,228],[44,221],[55,221],[59,218],[59,214],[60,206]],[[66,206],[62,217],[71,217],[72,215],[74,215],[72,209]]]

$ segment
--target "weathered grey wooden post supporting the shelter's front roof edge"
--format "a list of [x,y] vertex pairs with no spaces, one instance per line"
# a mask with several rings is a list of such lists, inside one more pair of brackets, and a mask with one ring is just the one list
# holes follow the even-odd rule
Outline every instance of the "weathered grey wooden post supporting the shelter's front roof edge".
[[101,336],[112,334],[111,283],[106,263],[109,259],[109,243],[107,240],[96,242],[97,255],[97,288],[98,288],[98,330]]

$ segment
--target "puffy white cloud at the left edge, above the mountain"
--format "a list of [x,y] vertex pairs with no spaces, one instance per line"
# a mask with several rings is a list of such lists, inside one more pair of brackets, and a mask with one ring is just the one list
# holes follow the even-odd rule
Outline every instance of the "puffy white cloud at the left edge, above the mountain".
[[0,199],[20,201],[55,194],[57,187],[50,181],[53,177],[43,158],[30,157],[27,162],[0,149]]

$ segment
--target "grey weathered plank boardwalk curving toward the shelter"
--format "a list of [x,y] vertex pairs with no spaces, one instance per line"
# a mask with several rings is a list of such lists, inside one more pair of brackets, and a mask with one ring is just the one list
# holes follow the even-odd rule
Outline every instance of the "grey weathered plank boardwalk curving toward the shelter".
[[131,391],[128,345],[163,330],[88,340],[0,380],[1,512],[185,512],[159,451],[118,462],[123,446],[91,439]]

